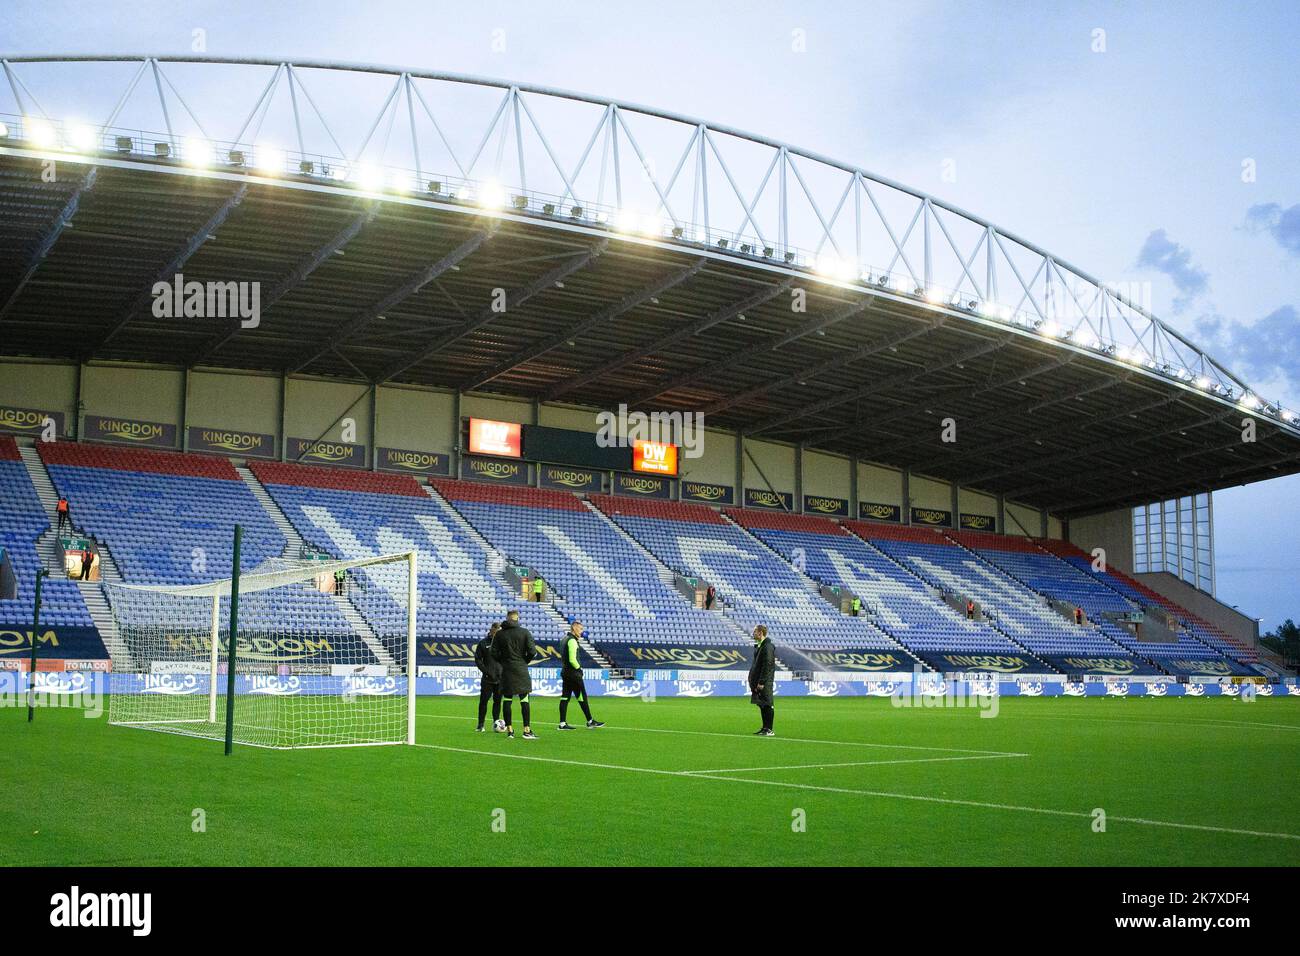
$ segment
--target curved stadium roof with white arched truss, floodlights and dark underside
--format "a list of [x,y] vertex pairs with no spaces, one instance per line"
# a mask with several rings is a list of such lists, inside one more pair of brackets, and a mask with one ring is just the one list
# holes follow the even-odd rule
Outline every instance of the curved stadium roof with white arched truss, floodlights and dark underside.
[[[4,355],[697,411],[1066,518],[1300,471],[1296,416],[1122,290],[763,137],[384,66],[0,61]],[[260,282],[261,325],[153,317],[176,273]]]

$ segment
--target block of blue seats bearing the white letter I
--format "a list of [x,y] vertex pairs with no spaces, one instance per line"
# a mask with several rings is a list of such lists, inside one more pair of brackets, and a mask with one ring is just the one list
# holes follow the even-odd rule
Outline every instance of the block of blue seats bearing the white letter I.
[[495,548],[537,568],[556,607],[581,619],[616,665],[645,666],[654,645],[748,645],[723,614],[692,606],[668,568],[577,496],[454,480],[434,486]]

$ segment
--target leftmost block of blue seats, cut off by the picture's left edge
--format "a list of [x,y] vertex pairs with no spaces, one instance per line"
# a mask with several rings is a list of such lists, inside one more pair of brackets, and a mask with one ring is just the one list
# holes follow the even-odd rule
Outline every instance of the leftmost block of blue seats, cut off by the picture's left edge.
[[[8,557],[17,579],[17,597],[0,600],[0,631],[26,635],[31,627],[36,570],[42,566],[36,542],[48,531],[49,518],[40,506],[18,446],[9,436],[0,436],[0,551]],[[53,628],[57,635],[56,640],[42,645],[43,657],[108,658],[81,591],[66,578],[51,576],[42,584],[40,623],[43,631]],[[0,659],[27,649],[26,640],[5,640],[0,645]]]

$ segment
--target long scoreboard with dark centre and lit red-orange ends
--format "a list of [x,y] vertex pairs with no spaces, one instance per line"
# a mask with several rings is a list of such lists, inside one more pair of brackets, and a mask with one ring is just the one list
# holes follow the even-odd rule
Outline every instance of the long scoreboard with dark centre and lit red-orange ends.
[[608,445],[592,432],[517,421],[467,419],[465,447],[472,455],[519,458],[525,462],[571,464],[597,471],[623,471],[640,475],[677,476],[677,453],[670,442],[633,441]]

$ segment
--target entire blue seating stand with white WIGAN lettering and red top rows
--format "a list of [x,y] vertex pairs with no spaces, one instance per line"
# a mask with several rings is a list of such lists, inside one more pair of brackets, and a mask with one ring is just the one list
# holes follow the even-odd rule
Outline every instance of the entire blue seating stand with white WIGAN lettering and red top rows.
[[[246,571],[416,550],[421,665],[472,663],[473,645],[510,607],[538,639],[540,663],[554,659],[573,619],[588,627],[589,666],[744,667],[759,623],[798,670],[910,670],[918,661],[978,670],[996,658],[1023,671],[1213,676],[1249,674],[1257,661],[1252,648],[1141,581],[1093,568],[1092,555],[1065,541],[451,479],[426,488],[403,475],[278,462],[252,462],[240,475],[229,459],[176,451],[36,449],[70,502],[74,532],[94,538],[126,583],[229,576],[235,524]],[[0,628],[30,624],[47,533],[20,449],[0,437],[0,548],[18,581],[17,598],[0,600]],[[712,585],[714,610],[694,606],[676,575]],[[542,602],[520,593],[536,576]],[[404,568],[354,570],[346,596],[328,591],[286,588],[251,606],[248,623],[291,619],[325,637],[315,662],[330,659],[330,636],[358,630],[377,661],[398,650]],[[858,615],[836,604],[840,592],[861,600]],[[134,613],[143,623],[166,614],[161,602]],[[108,656],[75,583],[46,581],[42,622],[60,633],[43,654]],[[4,653],[18,653],[22,641],[13,644]]]

